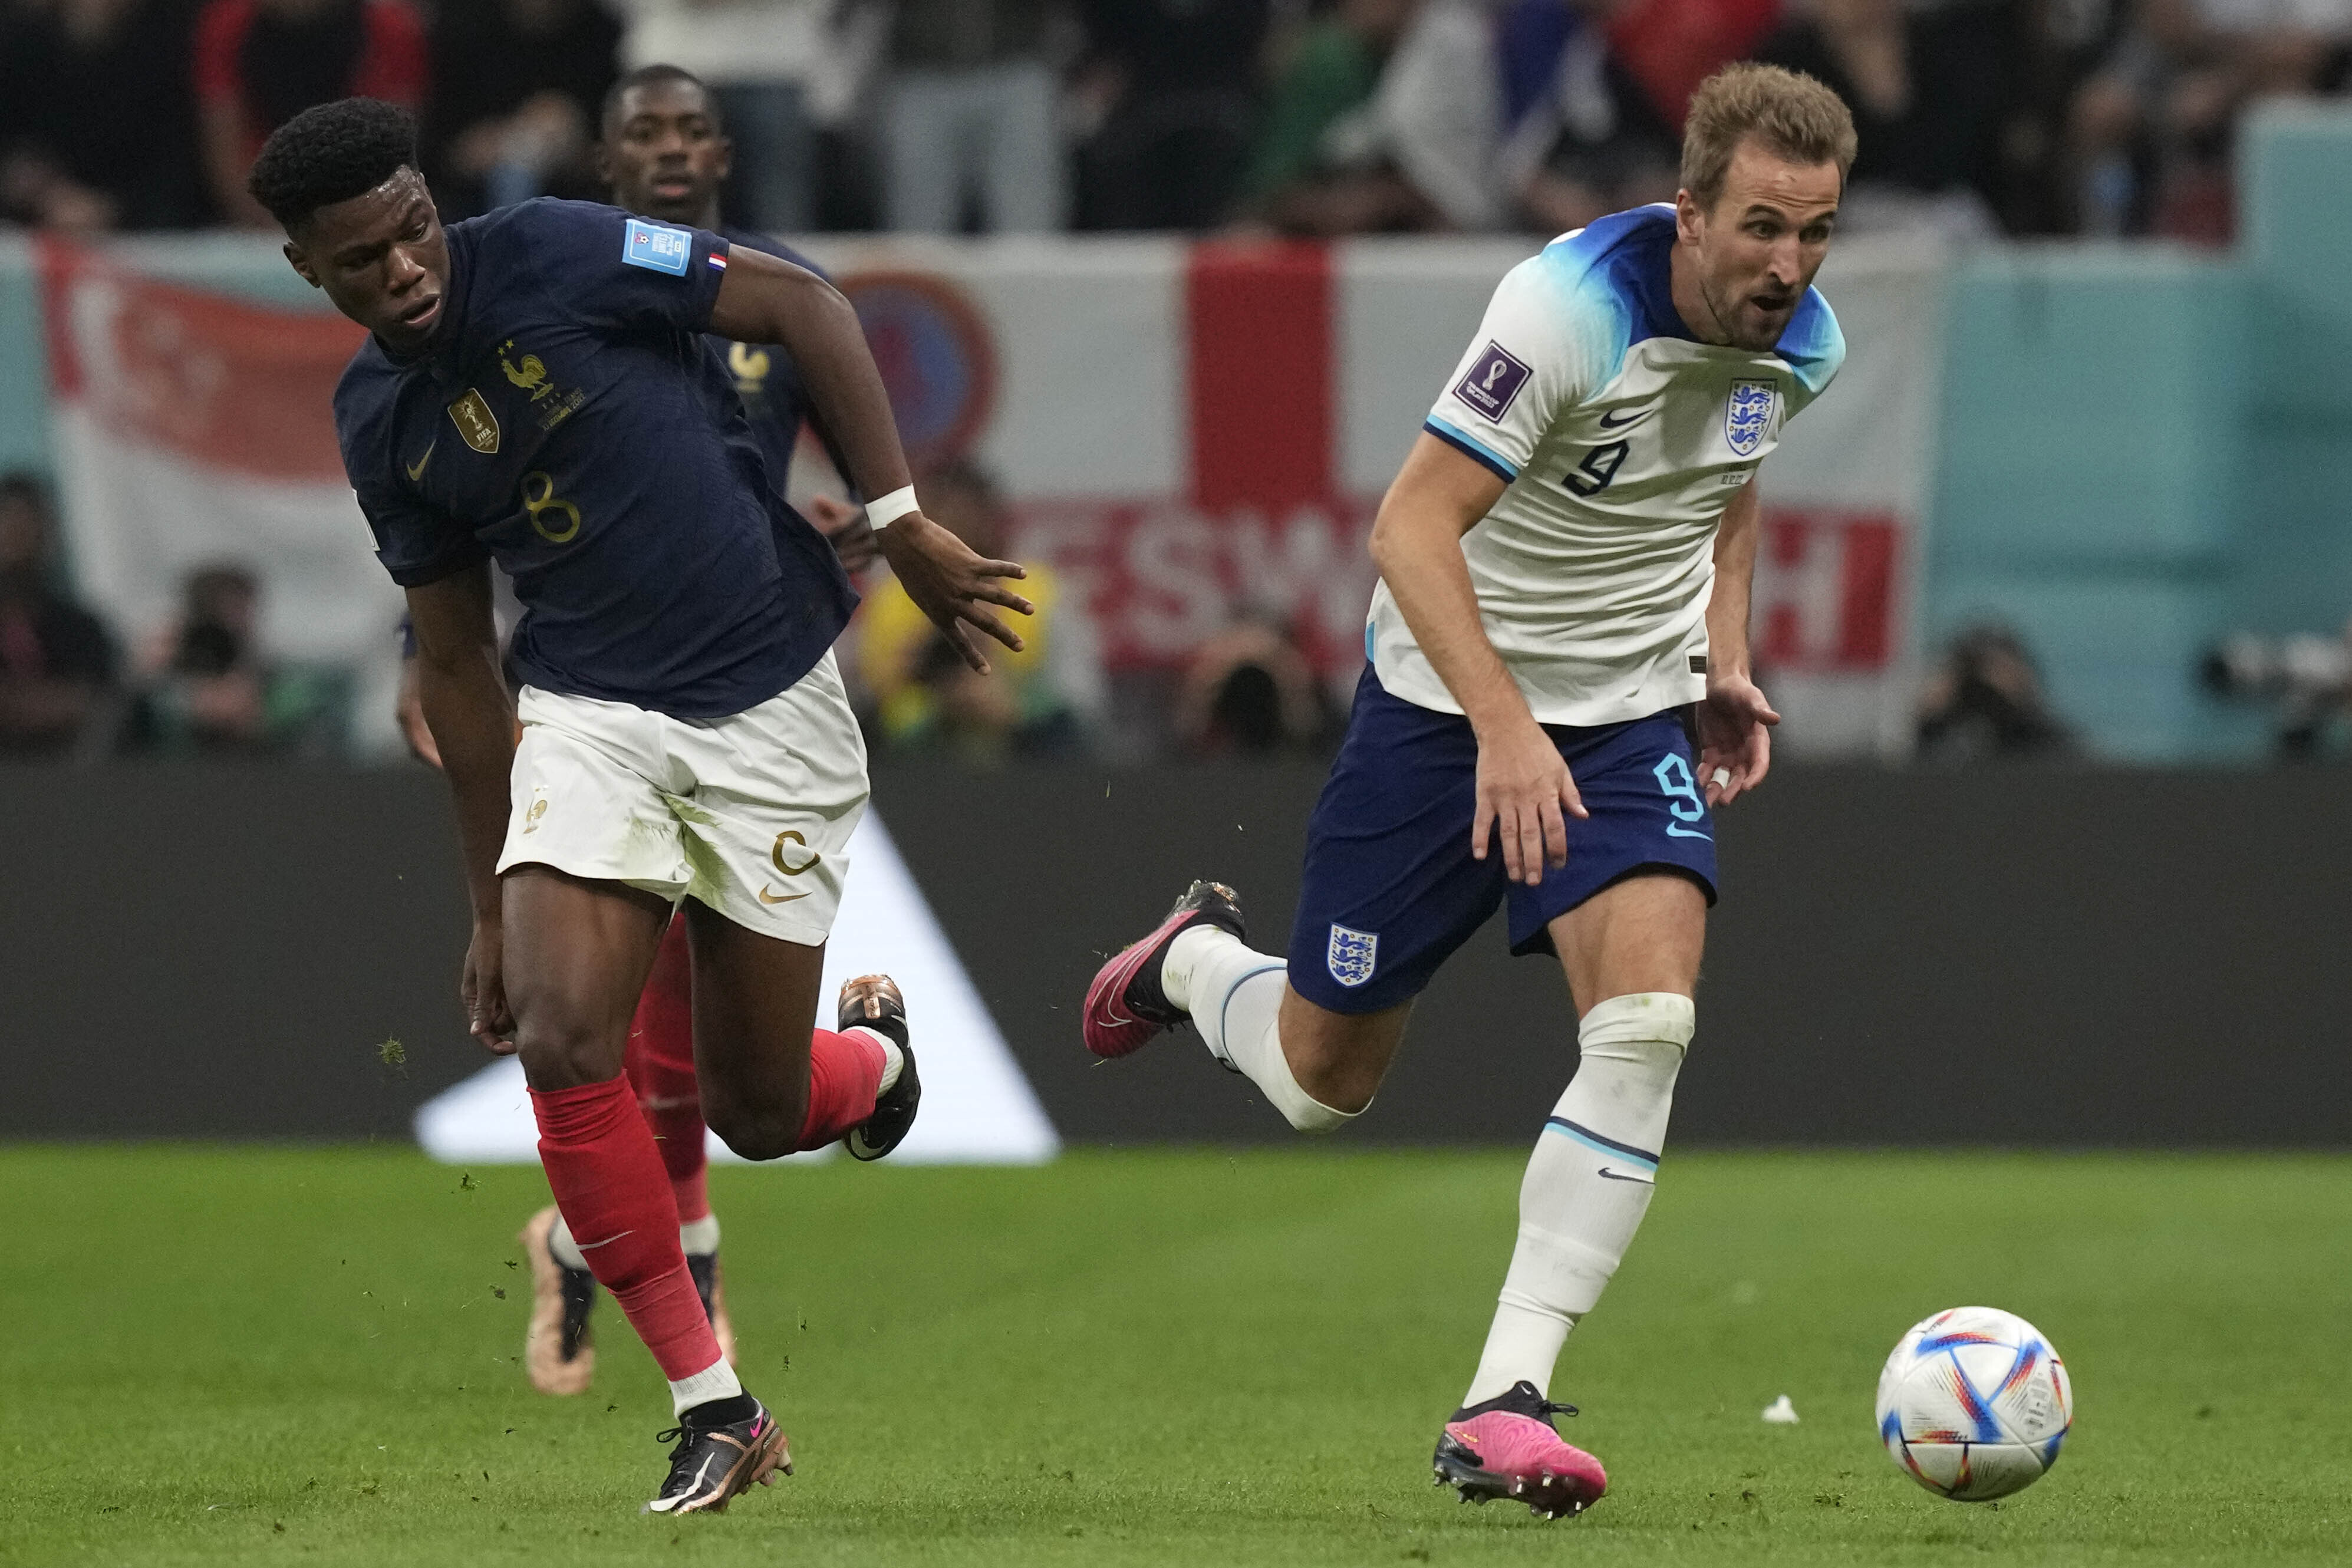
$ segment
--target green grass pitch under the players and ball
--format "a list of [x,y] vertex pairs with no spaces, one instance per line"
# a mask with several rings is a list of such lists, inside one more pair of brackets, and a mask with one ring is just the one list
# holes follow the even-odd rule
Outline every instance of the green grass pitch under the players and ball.
[[[2343,1563],[2352,1159],[1670,1157],[1555,1394],[1581,1521],[1430,1488],[1519,1154],[1084,1152],[720,1171],[748,1385],[800,1465],[652,1521],[668,1401],[522,1382],[536,1171],[390,1150],[0,1150],[0,1563]],[[503,1293],[503,1295],[501,1295]],[[2023,1312],[2077,1422],[1997,1507],[1870,1396]],[[1759,1410],[1790,1394],[1797,1427]]]

